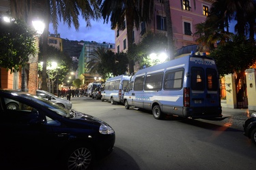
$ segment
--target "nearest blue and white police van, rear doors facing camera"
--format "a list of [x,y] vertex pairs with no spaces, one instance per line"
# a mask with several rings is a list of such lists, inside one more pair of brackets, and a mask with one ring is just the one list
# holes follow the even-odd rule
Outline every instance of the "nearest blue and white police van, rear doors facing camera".
[[191,54],[139,70],[124,93],[124,105],[184,118],[222,117],[219,75],[212,58]]

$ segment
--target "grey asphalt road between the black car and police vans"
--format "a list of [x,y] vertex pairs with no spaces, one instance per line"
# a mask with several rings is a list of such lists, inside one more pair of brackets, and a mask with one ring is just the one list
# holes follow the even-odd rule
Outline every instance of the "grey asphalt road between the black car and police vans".
[[242,128],[227,121],[170,116],[111,105],[89,97],[72,98],[73,109],[109,123],[116,133],[113,152],[94,169],[255,169],[256,146]]

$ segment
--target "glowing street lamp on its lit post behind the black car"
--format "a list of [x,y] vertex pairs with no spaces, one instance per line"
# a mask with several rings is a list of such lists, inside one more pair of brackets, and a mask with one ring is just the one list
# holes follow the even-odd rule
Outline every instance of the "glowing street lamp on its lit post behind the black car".
[[[44,31],[44,23],[35,20],[32,21],[33,27],[37,35],[35,35],[35,45],[39,50],[39,37]],[[29,58],[29,93],[32,95],[36,94],[36,90],[38,89],[38,53],[35,56],[31,56]]]

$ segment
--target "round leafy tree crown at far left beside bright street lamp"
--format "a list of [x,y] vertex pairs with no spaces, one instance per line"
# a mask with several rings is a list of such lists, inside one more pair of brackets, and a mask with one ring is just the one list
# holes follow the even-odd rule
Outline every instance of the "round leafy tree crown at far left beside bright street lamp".
[[0,67],[11,72],[29,61],[29,55],[36,54],[35,32],[20,19],[0,22]]

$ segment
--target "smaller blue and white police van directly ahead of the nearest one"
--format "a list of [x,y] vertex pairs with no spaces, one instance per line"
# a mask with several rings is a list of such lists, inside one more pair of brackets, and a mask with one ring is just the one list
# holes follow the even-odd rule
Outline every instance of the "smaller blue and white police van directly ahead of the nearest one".
[[124,103],[124,90],[128,88],[130,76],[118,75],[106,80],[102,91],[102,101],[111,101],[111,104]]

